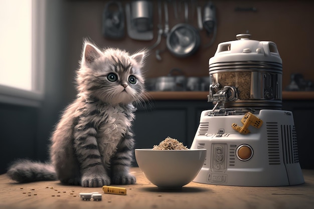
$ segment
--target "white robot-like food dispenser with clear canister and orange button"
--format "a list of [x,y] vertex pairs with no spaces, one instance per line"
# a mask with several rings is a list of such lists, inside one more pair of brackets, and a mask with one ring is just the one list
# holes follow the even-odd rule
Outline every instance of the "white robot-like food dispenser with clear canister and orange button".
[[282,61],[275,43],[249,34],[218,45],[209,60],[212,110],[191,149],[207,149],[195,182],[238,186],[304,183],[293,115],[281,110]]

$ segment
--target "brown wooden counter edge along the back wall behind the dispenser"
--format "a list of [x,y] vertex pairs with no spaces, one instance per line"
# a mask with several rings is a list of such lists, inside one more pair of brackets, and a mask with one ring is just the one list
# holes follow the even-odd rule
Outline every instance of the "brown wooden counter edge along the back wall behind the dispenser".
[[[148,91],[153,100],[205,100],[207,91]],[[282,100],[314,100],[314,91],[283,91]]]

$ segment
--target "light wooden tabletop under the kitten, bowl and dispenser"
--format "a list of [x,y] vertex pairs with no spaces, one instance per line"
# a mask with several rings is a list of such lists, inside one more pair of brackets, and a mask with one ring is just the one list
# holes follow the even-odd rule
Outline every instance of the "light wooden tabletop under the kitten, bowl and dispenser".
[[[163,190],[151,184],[138,167],[136,184],[124,185],[126,195],[105,194],[101,188],[66,186],[59,181],[18,184],[0,175],[0,208],[6,209],[168,209],[168,208],[314,208],[314,170],[302,170],[304,184],[248,187],[191,182],[182,189]],[[101,201],[84,201],[80,192],[99,192]],[[53,196],[54,195],[54,196]]]

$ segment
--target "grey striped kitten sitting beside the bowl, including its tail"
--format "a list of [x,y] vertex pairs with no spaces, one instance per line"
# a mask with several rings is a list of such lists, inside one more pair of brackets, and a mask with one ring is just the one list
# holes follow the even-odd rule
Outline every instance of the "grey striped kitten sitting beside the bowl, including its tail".
[[141,68],[145,51],[129,55],[84,43],[77,71],[77,98],[64,111],[50,147],[51,163],[20,160],[8,175],[18,182],[56,180],[100,187],[133,184],[131,122],[144,98]]

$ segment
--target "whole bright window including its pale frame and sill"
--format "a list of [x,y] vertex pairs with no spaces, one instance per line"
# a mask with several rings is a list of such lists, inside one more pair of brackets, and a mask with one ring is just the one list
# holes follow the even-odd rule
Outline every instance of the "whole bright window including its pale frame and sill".
[[42,98],[44,6],[42,0],[0,0],[0,102],[37,106]]

